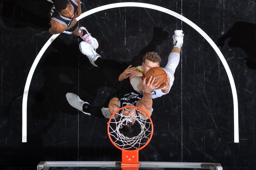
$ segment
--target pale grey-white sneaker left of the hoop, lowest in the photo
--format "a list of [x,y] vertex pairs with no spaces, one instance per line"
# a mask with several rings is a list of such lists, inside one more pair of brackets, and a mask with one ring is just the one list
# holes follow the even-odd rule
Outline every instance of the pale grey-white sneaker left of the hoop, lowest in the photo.
[[81,100],[76,94],[74,93],[67,93],[66,98],[68,100],[68,103],[72,106],[75,107],[77,110],[80,110],[83,112],[85,115],[91,115],[90,113],[86,113],[83,111],[83,105],[90,105],[86,101]]

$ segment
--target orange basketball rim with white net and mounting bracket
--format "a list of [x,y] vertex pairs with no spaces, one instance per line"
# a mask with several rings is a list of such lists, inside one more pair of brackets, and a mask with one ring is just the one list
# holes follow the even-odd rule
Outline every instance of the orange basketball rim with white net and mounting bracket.
[[[134,108],[136,114],[132,114],[134,113],[134,111],[132,112]],[[125,115],[124,111],[131,113],[132,116]],[[143,118],[141,115],[148,119]],[[121,129],[127,125],[132,126],[135,132],[123,133]],[[108,121],[108,137],[112,144],[122,151],[121,168],[139,168],[139,150],[149,143],[152,135],[153,122],[148,113],[140,107],[121,107],[114,112]]]

